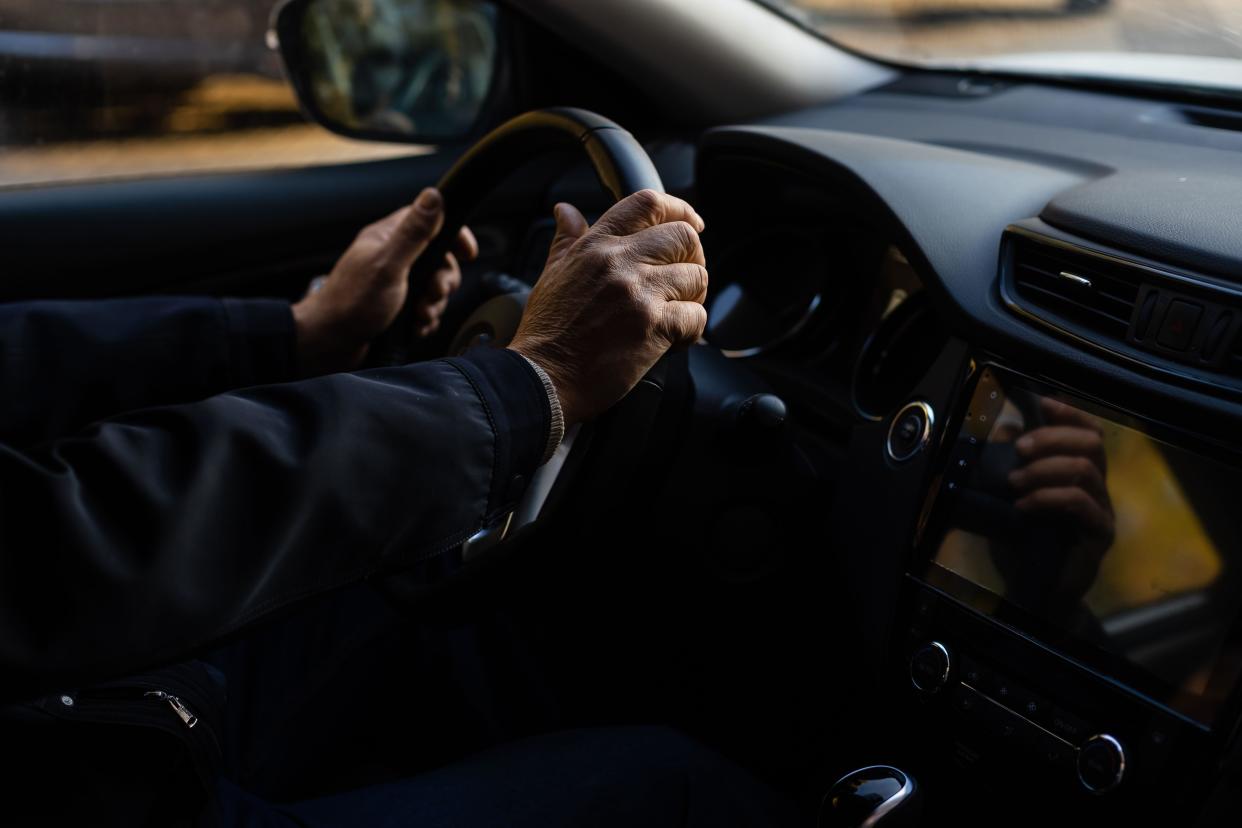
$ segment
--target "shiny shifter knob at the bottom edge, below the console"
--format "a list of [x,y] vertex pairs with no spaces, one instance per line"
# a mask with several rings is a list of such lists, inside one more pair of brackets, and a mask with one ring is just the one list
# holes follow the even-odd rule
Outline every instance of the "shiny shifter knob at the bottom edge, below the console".
[[909,773],[872,765],[846,773],[820,806],[820,828],[905,828],[918,822],[918,786]]

